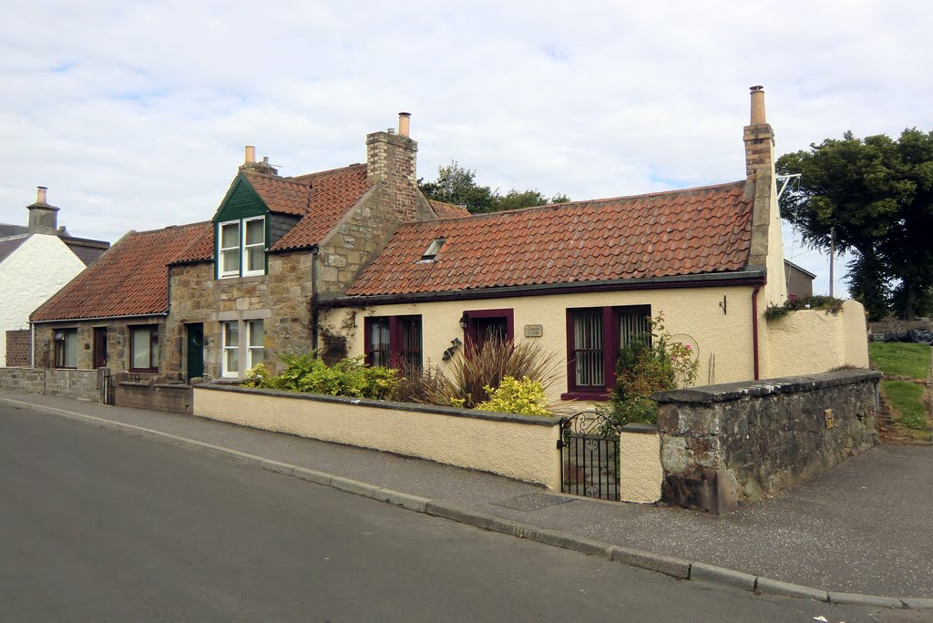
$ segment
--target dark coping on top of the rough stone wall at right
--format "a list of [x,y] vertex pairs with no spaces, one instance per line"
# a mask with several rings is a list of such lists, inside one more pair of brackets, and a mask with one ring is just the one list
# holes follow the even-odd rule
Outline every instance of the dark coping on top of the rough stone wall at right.
[[745,397],[812,392],[814,390],[838,385],[878,381],[881,378],[882,373],[876,370],[836,370],[833,372],[823,372],[800,377],[783,377],[781,379],[742,381],[709,385],[706,387],[691,387],[689,389],[658,392],[651,395],[651,397],[661,403],[681,402],[712,405],[717,402],[729,402]]

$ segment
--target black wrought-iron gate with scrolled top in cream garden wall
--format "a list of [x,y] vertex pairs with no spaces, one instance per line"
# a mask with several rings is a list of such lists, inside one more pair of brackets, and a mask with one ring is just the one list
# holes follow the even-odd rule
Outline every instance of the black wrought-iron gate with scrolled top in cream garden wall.
[[561,420],[561,491],[619,501],[619,428],[582,411]]

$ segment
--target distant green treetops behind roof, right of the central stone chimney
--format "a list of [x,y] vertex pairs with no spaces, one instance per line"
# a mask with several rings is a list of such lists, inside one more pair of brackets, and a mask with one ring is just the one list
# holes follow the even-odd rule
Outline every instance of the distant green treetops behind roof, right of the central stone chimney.
[[452,160],[447,166],[438,168],[438,179],[433,182],[418,180],[422,192],[428,199],[462,205],[472,214],[518,210],[547,203],[570,201],[563,193],[554,195],[550,200],[538,190],[517,190],[512,188],[505,195],[488,186],[476,182],[476,172],[466,169]]

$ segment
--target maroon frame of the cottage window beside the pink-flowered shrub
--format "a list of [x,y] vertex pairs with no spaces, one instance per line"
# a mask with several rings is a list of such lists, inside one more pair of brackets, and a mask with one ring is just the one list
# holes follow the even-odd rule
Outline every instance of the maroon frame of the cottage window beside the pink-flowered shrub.
[[[599,311],[603,321],[603,385],[577,384],[577,344],[575,344],[574,321],[578,313]],[[620,351],[620,317],[623,313],[651,315],[650,305],[626,305],[624,307],[578,307],[567,309],[567,391],[564,400],[606,400],[616,384],[616,360]]]

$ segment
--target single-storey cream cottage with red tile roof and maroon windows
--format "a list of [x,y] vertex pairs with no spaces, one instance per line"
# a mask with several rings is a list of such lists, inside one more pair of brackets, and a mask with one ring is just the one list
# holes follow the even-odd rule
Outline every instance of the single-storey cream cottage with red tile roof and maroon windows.
[[327,325],[372,364],[443,367],[452,344],[491,330],[538,340],[565,362],[552,400],[602,399],[621,346],[659,314],[701,385],[867,367],[855,302],[844,321],[765,320],[787,300],[773,137],[753,87],[743,179],[405,223],[345,293],[322,296]]

